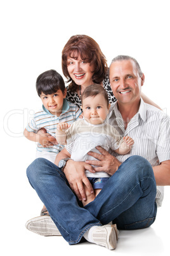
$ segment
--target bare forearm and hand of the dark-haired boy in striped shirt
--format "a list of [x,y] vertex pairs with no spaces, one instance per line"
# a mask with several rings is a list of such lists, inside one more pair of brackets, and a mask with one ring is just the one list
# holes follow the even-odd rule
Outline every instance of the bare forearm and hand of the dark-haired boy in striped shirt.
[[44,148],[56,144],[56,139],[47,132],[29,132],[25,128],[23,134],[25,138],[40,143]]

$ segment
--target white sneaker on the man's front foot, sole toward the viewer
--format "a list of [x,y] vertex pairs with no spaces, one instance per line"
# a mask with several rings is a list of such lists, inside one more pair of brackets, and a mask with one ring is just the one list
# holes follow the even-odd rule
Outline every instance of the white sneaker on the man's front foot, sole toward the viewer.
[[117,227],[116,225],[103,225],[96,227],[92,232],[92,238],[96,245],[105,246],[109,250],[114,250],[117,246]]

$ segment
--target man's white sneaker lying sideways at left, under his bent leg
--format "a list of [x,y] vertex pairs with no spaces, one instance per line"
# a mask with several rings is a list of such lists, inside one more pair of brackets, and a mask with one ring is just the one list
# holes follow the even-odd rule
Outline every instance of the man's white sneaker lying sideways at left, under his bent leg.
[[25,227],[41,236],[62,236],[49,216],[40,216],[28,220]]

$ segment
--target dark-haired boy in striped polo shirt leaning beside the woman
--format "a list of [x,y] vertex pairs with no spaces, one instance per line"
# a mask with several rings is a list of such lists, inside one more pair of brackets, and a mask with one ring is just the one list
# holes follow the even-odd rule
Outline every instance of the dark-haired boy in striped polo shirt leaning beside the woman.
[[81,115],[81,110],[67,102],[63,78],[53,69],[38,76],[36,89],[42,109],[35,113],[23,133],[27,139],[38,143],[36,158],[55,162],[56,154],[63,148],[55,139],[56,125],[59,122],[72,124]]

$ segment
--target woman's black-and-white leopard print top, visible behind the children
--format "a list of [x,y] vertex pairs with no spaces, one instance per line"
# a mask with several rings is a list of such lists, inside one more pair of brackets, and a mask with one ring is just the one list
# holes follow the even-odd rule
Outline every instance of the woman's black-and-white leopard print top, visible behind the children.
[[[110,87],[108,76],[106,76],[106,78],[103,80],[103,88],[107,91],[109,103],[114,103],[115,101],[117,101]],[[80,108],[81,99],[78,96],[77,92],[70,92],[69,86],[67,86],[66,89],[67,89],[67,96],[66,96],[67,101],[69,101],[70,103],[76,104]]]

